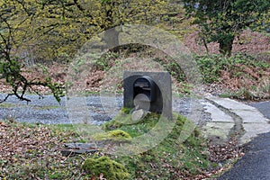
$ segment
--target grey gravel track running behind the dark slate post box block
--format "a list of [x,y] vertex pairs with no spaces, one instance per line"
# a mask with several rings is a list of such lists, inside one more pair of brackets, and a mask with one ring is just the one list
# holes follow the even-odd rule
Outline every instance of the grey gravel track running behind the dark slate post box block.
[[[0,94],[0,100],[4,99],[6,94]],[[45,95],[40,98],[38,95],[27,95],[31,99],[30,103],[20,101],[16,97],[11,96],[4,103],[0,103],[0,120],[14,118],[21,122],[35,122],[44,124],[71,124],[68,113],[70,103],[67,98],[63,97],[58,103],[52,95]],[[91,122],[94,124],[102,124],[104,121],[110,121],[121,110],[122,97],[109,97],[102,100],[100,96],[91,95],[87,97],[78,97],[78,102],[85,102],[85,107]],[[77,101],[76,100],[76,101]],[[179,112],[190,119],[197,119],[196,123],[204,123],[210,121],[210,114],[203,112],[203,100],[194,100],[188,98],[173,98],[173,110]],[[73,103],[79,109],[80,105]],[[115,107],[116,106],[116,107]],[[78,115],[80,113],[78,112]],[[191,114],[195,114],[197,118],[193,118]]]

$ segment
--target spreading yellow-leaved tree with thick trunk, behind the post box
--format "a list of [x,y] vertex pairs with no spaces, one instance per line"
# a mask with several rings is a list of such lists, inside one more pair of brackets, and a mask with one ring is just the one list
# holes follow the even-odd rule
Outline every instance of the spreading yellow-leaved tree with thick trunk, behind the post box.
[[[50,38],[54,36],[53,34],[57,35],[61,40],[53,44],[59,44],[60,47],[56,49],[66,52],[78,49],[94,34],[125,23],[155,23],[165,14],[168,3],[165,0],[59,0],[59,2],[61,3],[54,1],[42,3],[43,8],[40,11],[44,16],[40,21],[50,22],[47,26],[51,27],[51,23],[55,24],[57,19],[61,20],[48,35]],[[108,42],[114,43],[111,47],[118,44],[119,31],[112,29],[104,34]],[[70,44],[73,47],[70,47]],[[65,48],[66,45],[68,48]]]

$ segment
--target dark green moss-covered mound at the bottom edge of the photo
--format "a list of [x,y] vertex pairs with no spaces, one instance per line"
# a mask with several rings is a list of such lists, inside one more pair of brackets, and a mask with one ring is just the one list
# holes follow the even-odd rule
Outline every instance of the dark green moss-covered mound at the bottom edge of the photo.
[[130,178],[127,169],[109,157],[87,158],[82,168],[85,172],[94,176],[103,174],[108,180]]

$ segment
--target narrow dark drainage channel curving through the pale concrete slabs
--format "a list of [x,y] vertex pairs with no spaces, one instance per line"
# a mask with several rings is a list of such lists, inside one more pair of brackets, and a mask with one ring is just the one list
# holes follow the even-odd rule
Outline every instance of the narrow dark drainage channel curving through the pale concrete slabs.
[[243,120],[240,116],[238,116],[238,114],[236,114],[235,112],[229,111],[229,109],[221,106],[219,103],[215,103],[214,101],[208,98],[205,98],[205,100],[215,105],[217,108],[220,109],[220,111],[225,112],[233,119],[234,126],[229,130],[228,138],[236,138],[239,140],[246,133],[246,130],[244,130],[244,127],[243,127]]

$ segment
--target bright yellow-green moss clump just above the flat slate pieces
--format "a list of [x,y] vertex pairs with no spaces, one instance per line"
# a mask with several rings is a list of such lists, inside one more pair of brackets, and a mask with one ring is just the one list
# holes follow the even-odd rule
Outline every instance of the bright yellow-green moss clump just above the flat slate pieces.
[[96,140],[112,139],[116,141],[122,141],[122,140],[129,141],[131,137],[128,132],[125,132],[123,130],[111,130],[111,131],[95,134],[94,139]]

